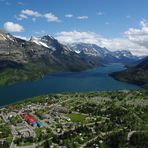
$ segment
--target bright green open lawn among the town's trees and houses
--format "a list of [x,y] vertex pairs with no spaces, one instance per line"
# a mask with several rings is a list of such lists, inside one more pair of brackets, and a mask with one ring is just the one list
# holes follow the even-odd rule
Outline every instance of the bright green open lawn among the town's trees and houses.
[[72,122],[81,122],[81,123],[84,123],[85,122],[85,118],[86,118],[85,115],[75,114],[75,113],[66,114],[66,116],[69,117]]

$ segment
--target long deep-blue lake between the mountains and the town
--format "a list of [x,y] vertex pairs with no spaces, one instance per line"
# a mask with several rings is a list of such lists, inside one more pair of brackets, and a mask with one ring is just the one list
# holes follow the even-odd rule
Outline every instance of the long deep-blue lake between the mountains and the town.
[[110,73],[125,69],[123,64],[109,64],[84,72],[49,74],[41,80],[0,87],[0,106],[25,98],[60,92],[140,89],[139,86],[114,80]]

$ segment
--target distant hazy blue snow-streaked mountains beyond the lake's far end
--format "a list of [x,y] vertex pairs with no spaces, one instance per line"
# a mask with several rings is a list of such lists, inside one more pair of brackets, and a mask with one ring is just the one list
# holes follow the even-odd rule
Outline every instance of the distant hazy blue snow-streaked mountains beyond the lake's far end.
[[132,63],[139,60],[129,50],[110,51],[95,44],[73,43],[68,45],[73,51],[81,56],[99,57],[103,62]]

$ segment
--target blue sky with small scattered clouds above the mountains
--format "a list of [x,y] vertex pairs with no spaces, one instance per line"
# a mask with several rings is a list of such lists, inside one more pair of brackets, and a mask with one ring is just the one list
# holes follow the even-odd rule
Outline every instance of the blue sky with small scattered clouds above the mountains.
[[138,44],[136,48],[145,54],[145,41],[144,45],[131,41],[130,29],[135,35],[148,26],[147,6],[147,0],[0,0],[0,28],[25,37],[50,34],[61,41],[68,33],[71,39],[72,33],[83,38],[91,33],[98,40],[103,39],[102,46],[113,49],[111,46],[126,40],[131,46],[124,48]]

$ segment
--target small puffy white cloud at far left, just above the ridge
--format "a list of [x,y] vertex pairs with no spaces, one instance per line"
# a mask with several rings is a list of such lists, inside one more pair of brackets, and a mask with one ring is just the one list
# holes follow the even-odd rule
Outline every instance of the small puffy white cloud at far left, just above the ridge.
[[24,30],[23,26],[20,24],[15,24],[13,22],[6,22],[4,24],[4,29],[8,32],[21,32]]

